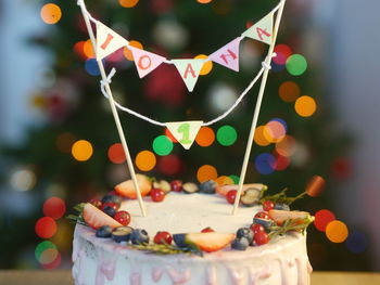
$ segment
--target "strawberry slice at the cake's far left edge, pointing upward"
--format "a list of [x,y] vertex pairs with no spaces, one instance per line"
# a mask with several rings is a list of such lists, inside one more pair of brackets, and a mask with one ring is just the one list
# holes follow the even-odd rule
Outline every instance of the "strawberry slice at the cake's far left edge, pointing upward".
[[110,225],[112,229],[123,226],[118,221],[114,220],[90,203],[87,203],[85,205],[81,215],[85,219],[85,222],[94,230],[98,230],[102,225]]

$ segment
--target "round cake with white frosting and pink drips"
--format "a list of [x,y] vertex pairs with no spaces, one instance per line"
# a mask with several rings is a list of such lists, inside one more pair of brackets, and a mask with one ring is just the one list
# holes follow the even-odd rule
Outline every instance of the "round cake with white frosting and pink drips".
[[[230,192],[233,186],[226,186],[226,189]],[[226,191],[219,193],[227,194]],[[263,196],[259,196],[262,202]],[[268,197],[279,196],[286,200],[284,195]],[[92,228],[98,228],[98,231],[80,222],[75,226],[74,282],[76,285],[309,284],[312,267],[306,251],[305,229],[313,219],[306,212],[274,209],[275,204],[273,204],[273,209],[268,210],[270,217],[267,220],[261,219],[259,215],[265,211],[263,211],[263,203],[257,198],[254,206],[240,207],[233,216],[231,205],[226,202],[224,195],[210,194],[207,191],[193,194],[170,191],[160,203],[152,200],[151,197],[144,197],[148,217],[141,216],[136,199],[124,200],[118,211],[130,213],[130,222],[128,221],[130,229],[144,229],[149,233],[150,242],[144,244],[147,247],[143,244],[139,247],[139,245],[131,245],[130,242],[116,243],[111,237],[99,237],[101,235],[98,234],[98,231],[101,231],[99,230],[101,223],[93,226],[91,216],[91,219],[87,218],[88,223]],[[100,205],[93,205],[100,207]],[[86,207],[90,210],[96,208],[91,204],[86,204]],[[104,210],[104,207],[101,209]],[[102,212],[101,209],[94,211]],[[104,211],[107,212],[107,210]],[[85,212],[81,218],[84,216],[86,216]],[[241,246],[236,241],[245,241],[245,236],[239,236],[239,231],[241,231],[239,229],[253,229],[253,217],[256,217],[253,224],[259,224],[258,226],[266,225],[265,222],[270,220],[271,230],[265,226],[266,232],[269,232],[270,241],[261,243],[253,238],[251,246]],[[114,220],[110,216],[106,219]],[[84,220],[86,222],[86,217]],[[117,222],[110,221],[104,220],[111,225],[111,229],[114,228],[111,231],[116,231]],[[293,228],[290,224],[293,224]],[[161,251],[161,249],[154,251],[153,236],[156,232],[162,231],[174,234],[177,244],[173,246],[164,244],[163,248],[180,249],[181,242],[187,242],[189,237],[192,243],[188,245],[195,244],[199,251],[174,251],[173,254]],[[270,231],[279,231],[280,234],[271,235],[270,233],[274,232]],[[215,248],[215,244],[218,244],[219,241],[213,241],[214,237],[225,238],[230,235],[232,238],[227,241],[227,245]],[[193,236],[197,236],[198,239],[191,239]],[[185,239],[179,237],[185,237]]]

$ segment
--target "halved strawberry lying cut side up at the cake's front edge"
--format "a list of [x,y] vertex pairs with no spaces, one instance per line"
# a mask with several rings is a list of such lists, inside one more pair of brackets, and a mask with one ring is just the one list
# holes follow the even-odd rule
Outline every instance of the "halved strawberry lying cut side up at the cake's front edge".
[[229,245],[233,241],[235,234],[208,232],[175,234],[173,237],[179,247],[197,245],[202,251],[212,252]]

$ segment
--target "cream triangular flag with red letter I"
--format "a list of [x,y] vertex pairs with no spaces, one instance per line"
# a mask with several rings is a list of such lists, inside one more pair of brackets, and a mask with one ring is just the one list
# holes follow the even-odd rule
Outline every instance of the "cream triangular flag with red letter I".
[[126,47],[128,41],[121,35],[113,31],[104,24],[97,23],[97,60],[103,60],[105,56]]

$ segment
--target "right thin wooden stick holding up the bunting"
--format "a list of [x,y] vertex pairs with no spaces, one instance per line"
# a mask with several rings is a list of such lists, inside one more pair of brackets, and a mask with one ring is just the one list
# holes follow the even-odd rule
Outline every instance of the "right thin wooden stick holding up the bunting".
[[265,86],[266,86],[266,82],[267,82],[267,79],[268,79],[268,73],[269,73],[269,69],[270,69],[270,62],[271,62],[273,53],[274,53],[274,50],[275,50],[275,44],[276,44],[276,39],[277,39],[277,35],[278,35],[278,29],[280,27],[280,22],[281,22],[281,17],[282,17],[283,7],[284,7],[284,3],[286,3],[286,0],[281,0],[281,1],[282,1],[282,4],[280,5],[280,9],[278,10],[277,16],[276,16],[276,23],[275,23],[275,28],[274,28],[273,40],[271,40],[271,43],[269,46],[268,55],[267,55],[267,57],[265,59],[265,62],[264,62],[264,66],[266,68],[265,68],[264,74],[263,74],[262,83],[261,83],[261,87],[259,87],[258,96],[257,96],[257,101],[256,101],[255,112],[253,114],[250,137],[249,137],[248,143],[246,143],[246,150],[245,150],[243,166],[242,166],[241,172],[240,172],[239,187],[238,187],[237,196],[236,196],[235,203],[233,203],[232,215],[235,215],[237,209],[238,209],[240,197],[241,197],[241,192],[242,192],[243,184],[244,184],[248,161],[250,159],[252,145],[253,145],[253,138],[255,135],[255,130],[256,130],[256,125],[257,125],[257,118],[258,118],[258,115],[259,115],[259,109],[262,107],[262,101],[263,101],[263,96],[264,96]]

